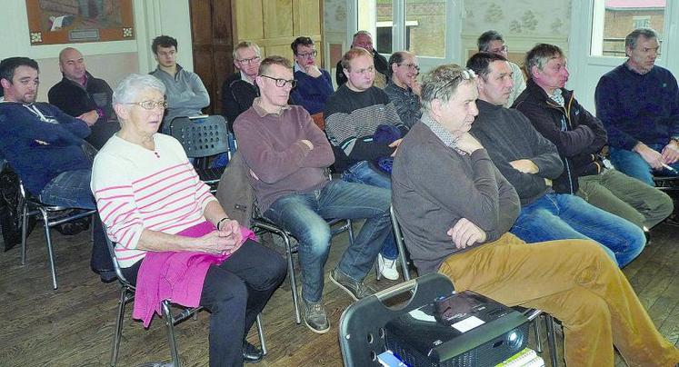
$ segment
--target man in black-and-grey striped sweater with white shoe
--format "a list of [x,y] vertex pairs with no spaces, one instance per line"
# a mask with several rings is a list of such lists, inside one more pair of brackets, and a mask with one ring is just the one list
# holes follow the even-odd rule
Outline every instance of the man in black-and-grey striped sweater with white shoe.
[[[394,104],[374,86],[373,57],[363,48],[353,48],[342,57],[347,82],[337,88],[325,104],[325,132],[335,152],[335,170],[349,183],[366,183],[391,188],[388,174],[375,164],[394,154],[408,128],[401,122]],[[385,127],[391,138],[378,138]],[[398,279],[396,249],[388,237],[378,258],[385,278]]]

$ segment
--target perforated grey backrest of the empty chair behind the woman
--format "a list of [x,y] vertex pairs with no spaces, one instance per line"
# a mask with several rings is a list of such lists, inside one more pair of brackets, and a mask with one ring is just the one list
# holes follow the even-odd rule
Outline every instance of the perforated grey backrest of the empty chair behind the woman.
[[183,146],[189,158],[202,158],[229,152],[229,131],[219,114],[176,117],[170,123],[170,134]]

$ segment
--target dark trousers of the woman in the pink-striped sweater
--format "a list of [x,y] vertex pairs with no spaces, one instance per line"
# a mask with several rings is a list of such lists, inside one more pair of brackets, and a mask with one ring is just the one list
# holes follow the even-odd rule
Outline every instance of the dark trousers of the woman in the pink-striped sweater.
[[[136,283],[142,262],[123,269]],[[248,240],[219,266],[205,275],[200,305],[210,315],[210,366],[242,366],[243,341],[257,314],[285,280],[285,259],[265,246]]]

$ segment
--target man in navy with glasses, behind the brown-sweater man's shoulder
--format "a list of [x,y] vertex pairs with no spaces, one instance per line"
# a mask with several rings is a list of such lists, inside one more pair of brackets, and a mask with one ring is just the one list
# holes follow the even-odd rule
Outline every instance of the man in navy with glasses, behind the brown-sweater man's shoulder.
[[323,112],[325,101],[333,94],[333,80],[327,70],[315,64],[317,51],[309,37],[297,37],[290,47],[295,55],[295,80],[297,86],[292,98],[295,104],[305,107],[309,114]]

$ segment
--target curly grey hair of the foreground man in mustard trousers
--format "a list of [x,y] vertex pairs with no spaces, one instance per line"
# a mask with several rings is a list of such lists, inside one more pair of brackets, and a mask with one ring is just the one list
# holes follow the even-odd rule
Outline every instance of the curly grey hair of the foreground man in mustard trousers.
[[474,71],[457,64],[437,66],[422,78],[422,108],[431,110],[434,98],[447,103],[460,84],[474,82],[475,77]]

